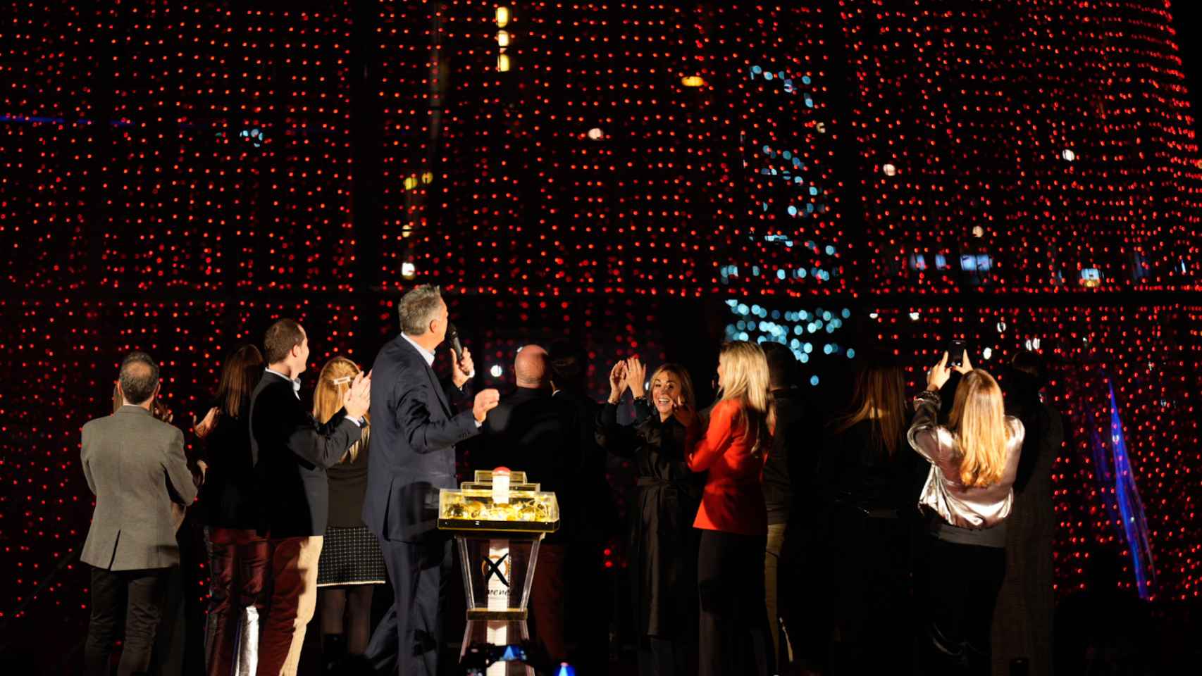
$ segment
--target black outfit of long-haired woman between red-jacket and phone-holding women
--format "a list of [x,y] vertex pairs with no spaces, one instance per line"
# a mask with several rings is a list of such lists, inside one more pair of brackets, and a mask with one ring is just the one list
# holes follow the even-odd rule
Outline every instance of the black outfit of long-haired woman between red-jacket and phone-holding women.
[[918,518],[917,454],[903,436],[892,455],[871,420],[829,433],[819,469],[827,503],[833,650],[831,674],[909,672],[912,622],[909,540]]

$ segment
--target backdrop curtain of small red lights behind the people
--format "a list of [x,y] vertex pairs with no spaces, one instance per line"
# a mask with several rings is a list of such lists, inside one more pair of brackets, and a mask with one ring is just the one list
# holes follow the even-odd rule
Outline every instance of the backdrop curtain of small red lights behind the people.
[[[1156,593],[1197,594],[1202,317],[1167,292],[1196,291],[1202,160],[1166,2],[97,5],[0,20],[0,620],[43,580],[25,612],[83,616],[50,573],[124,351],[191,413],[273,317],[314,367],[370,359],[418,281],[465,292],[502,378],[565,335],[595,385],[633,351],[703,376],[730,299],[876,311],[916,364],[1040,337],[1073,429],[1061,587],[1121,537],[1082,445],[1105,371]],[[1121,293],[1060,298],[1085,288]]]

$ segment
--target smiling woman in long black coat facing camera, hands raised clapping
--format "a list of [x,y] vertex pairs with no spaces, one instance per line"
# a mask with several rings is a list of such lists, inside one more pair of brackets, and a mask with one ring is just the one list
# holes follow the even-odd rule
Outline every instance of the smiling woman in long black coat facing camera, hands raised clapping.
[[[701,503],[703,475],[685,463],[685,427],[673,406],[696,406],[689,372],[665,364],[651,375],[650,402],[644,393],[647,370],[637,358],[619,361],[609,372],[609,400],[597,413],[596,441],[635,461],[637,497],[630,507],[631,592],[642,676],[696,674],[697,545],[692,528]],[[618,402],[629,388],[635,423],[618,424]]]

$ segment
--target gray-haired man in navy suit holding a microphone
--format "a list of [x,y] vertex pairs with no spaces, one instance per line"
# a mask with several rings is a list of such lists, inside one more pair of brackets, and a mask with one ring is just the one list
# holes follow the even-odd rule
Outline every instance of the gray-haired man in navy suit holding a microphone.
[[[476,395],[470,411],[454,400],[474,375],[471,354],[454,360],[448,381],[435,376],[434,351],[446,337],[447,306],[438,287],[423,285],[398,306],[400,335],[373,364],[377,383],[363,521],[380,539],[393,608],[376,628],[368,656],[376,663],[395,646],[404,676],[436,676],[451,540],[438,531],[439,489],[456,484],[456,444],[480,433],[500,400],[495,389]],[[391,636],[395,636],[395,644]]]

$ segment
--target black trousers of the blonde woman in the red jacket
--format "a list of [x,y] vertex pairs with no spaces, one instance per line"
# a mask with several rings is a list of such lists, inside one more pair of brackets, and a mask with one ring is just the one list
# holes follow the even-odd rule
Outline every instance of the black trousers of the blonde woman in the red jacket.
[[764,608],[766,536],[702,531],[697,558],[701,676],[773,674]]

